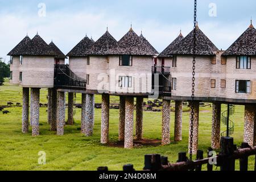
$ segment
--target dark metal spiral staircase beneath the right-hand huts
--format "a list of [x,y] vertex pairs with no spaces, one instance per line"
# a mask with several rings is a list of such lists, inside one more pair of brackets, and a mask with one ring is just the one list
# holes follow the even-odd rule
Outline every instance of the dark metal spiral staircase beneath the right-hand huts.
[[222,137],[230,137],[234,134],[234,122],[230,120],[230,116],[234,114],[235,106],[228,104],[228,110],[222,113],[221,121],[226,125],[226,131],[221,133]]

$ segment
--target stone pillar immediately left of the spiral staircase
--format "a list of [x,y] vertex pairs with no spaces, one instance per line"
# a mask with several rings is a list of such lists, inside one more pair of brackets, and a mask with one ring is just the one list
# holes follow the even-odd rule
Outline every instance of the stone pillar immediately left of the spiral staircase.
[[220,148],[221,103],[212,105],[212,148]]

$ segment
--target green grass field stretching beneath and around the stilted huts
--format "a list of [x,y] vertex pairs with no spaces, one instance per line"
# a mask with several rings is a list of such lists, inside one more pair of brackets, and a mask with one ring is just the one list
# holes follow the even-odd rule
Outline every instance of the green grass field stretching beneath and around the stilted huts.
[[[40,91],[40,102],[47,103],[47,90]],[[5,82],[0,86],[0,105],[7,102],[22,103],[22,88],[11,86]],[[111,102],[118,102],[118,97],[111,97]],[[77,103],[81,103],[81,94],[77,94]],[[96,96],[96,102],[101,102],[101,96]],[[186,109],[186,108],[185,108]],[[222,105],[222,110],[225,110]],[[81,110],[76,109],[74,126],[65,126],[65,135],[58,137],[49,131],[47,123],[47,108],[40,108],[40,136],[31,137],[22,134],[22,107],[8,108],[11,113],[0,113],[0,170],[96,170],[99,166],[108,166],[110,170],[122,170],[124,164],[134,164],[141,170],[145,154],[161,154],[168,156],[170,162],[176,162],[177,153],[187,151],[189,113],[183,114],[183,141],[172,142],[168,146],[143,146],[126,150],[121,147],[110,147],[100,143],[101,110],[95,110],[94,134],[84,137],[77,130],[80,127]],[[110,110],[110,142],[118,140],[118,110]],[[210,146],[211,136],[210,107],[200,108],[199,148],[206,151]],[[243,139],[244,107],[236,106],[236,114],[232,119],[235,123],[234,141],[240,146]],[[67,109],[66,109],[67,118]],[[144,112],[144,139],[161,139],[162,114]],[[221,128],[225,130],[224,126]],[[135,132],[134,132],[135,133]],[[171,113],[171,137],[174,137],[174,113]],[[46,164],[38,164],[38,152],[46,152]],[[205,154],[204,154],[205,155]],[[236,168],[239,169],[238,162]],[[254,157],[249,158],[249,169],[254,168]],[[205,169],[205,167],[204,167]],[[216,169],[214,167],[214,169]],[[218,170],[219,168],[217,168]]]

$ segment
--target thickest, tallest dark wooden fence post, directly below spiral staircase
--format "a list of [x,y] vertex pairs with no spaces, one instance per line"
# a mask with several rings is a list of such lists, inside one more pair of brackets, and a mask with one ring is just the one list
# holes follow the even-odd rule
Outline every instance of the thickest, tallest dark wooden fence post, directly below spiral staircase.
[[235,160],[229,159],[234,154],[234,140],[232,137],[221,137],[221,171],[234,171]]

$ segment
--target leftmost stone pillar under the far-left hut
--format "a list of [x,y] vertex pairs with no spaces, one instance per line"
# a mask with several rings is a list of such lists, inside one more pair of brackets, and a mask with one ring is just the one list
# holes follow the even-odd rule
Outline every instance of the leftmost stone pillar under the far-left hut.
[[28,110],[30,102],[30,88],[23,88],[22,95],[22,133],[28,133]]

